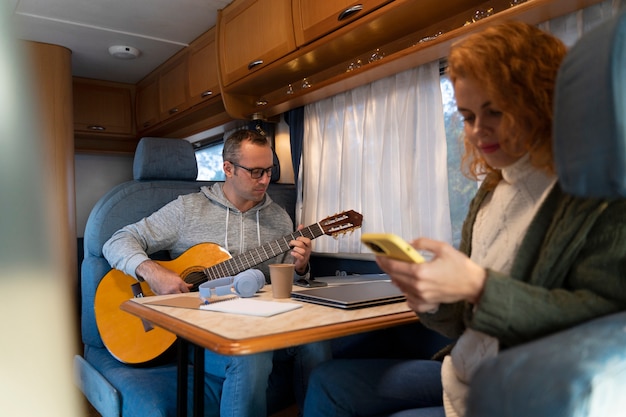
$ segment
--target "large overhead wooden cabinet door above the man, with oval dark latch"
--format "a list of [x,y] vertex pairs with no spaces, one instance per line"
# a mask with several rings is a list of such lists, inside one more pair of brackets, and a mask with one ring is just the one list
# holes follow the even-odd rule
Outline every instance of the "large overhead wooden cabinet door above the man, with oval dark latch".
[[296,49],[291,0],[235,0],[219,12],[217,27],[223,85]]

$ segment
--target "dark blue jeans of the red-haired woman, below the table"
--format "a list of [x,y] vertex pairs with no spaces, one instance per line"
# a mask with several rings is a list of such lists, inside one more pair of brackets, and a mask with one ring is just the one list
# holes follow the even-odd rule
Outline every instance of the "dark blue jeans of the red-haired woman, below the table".
[[406,359],[338,359],[311,374],[305,417],[445,415],[441,363]]

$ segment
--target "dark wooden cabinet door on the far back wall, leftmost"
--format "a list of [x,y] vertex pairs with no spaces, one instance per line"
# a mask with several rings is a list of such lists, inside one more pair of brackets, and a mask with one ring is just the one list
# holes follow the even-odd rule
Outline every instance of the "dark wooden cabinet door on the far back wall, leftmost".
[[132,86],[74,79],[74,130],[132,135]]

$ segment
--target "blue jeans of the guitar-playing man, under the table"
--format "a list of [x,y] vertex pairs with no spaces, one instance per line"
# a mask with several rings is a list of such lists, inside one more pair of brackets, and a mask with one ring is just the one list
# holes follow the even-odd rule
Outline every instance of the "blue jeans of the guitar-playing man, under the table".
[[[263,416],[268,409],[273,410],[274,404],[268,403],[267,398],[279,399],[285,395],[295,397],[302,409],[311,371],[330,358],[328,342],[242,356],[225,356],[205,350],[205,387],[210,391],[205,394],[217,397],[220,404],[219,410],[206,409],[205,416]],[[284,369],[279,369],[281,367],[288,368],[289,381],[284,381],[286,373]],[[274,376],[277,377],[271,378]],[[215,390],[216,379],[223,381],[221,393]],[[291,392],[280,392],[285,386]]]

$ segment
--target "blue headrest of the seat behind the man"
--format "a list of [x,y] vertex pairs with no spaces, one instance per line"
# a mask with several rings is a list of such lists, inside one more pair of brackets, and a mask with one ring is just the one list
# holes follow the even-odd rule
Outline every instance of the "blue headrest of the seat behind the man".
[[142,138],[135,151],[135,180],[195,181],[198,163],[193,145],[186,140]]

